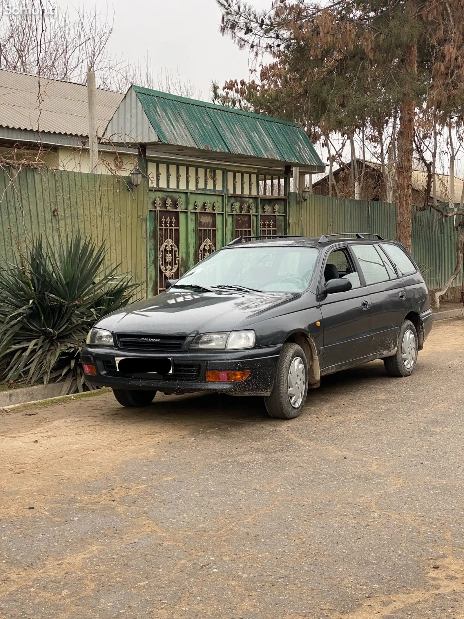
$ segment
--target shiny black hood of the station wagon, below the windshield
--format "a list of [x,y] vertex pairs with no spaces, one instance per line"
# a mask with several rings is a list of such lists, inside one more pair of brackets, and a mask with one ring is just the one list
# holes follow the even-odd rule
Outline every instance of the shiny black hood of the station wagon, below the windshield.
[[118,309],[97,322],[115,333],[189,335],[232,331],[256,321],[270,309],[288,303],[290,292],[166,292]]

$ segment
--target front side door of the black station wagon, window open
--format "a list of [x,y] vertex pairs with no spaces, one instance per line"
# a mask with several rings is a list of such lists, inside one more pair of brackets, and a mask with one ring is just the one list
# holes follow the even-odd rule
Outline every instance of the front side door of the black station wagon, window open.
[[[345,277],[347,292],[324,293],[325,282]],[[320,311],[324,331],[323,370],[350,364],[372,353],[372,307],[362,274],[348,246],[333,249],[324,261],[319,284]]]

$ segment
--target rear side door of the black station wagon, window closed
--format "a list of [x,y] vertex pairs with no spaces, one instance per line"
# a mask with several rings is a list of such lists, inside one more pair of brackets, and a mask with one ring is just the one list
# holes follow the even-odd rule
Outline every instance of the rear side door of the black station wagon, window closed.
[[395,349],[407,312],[403,280],[377,243],[351,245],[371,297],[374,352],[379,357]]

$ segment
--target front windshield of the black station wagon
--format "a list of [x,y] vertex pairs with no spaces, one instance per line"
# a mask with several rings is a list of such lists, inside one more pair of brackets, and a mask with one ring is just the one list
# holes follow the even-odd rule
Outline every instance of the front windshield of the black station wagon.
[[311,282],[318,253],[313,247],[226,248],[195,264],[176,285],[304,292]]

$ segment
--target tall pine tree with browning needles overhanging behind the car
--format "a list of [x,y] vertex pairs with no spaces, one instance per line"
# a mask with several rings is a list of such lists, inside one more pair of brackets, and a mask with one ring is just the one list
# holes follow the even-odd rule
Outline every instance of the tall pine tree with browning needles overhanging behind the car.
[[257,59],[260,79],[231,80],[223,103],[348,136],[399,118],[397,238],[411,249],[415,115],[462,114],[463,0],[275,0],[269,13],[217,0],[221,32]]

